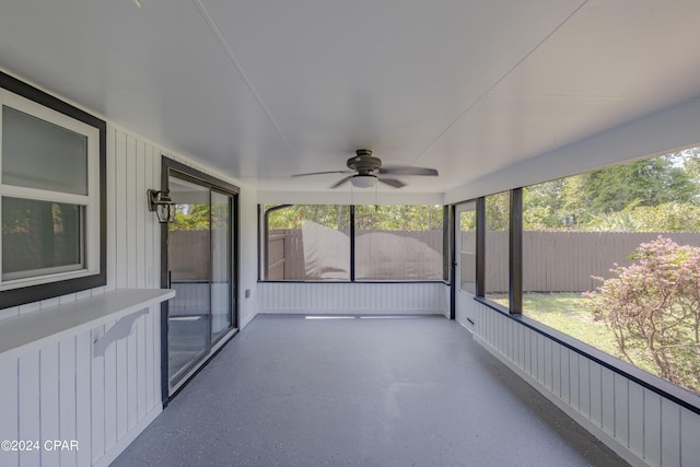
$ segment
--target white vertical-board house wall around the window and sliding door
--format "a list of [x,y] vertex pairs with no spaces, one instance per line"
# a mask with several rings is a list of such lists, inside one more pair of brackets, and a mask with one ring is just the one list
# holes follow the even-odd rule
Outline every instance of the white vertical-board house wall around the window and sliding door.
[[[86,109],[90,112],[90,109]],[[190,159],[107,124],[107,285],[0,311],[2,319],[42,313],[115,289],[160,288],[160,224],[145,190],[161,186],[161,155],[223,178],[240,194],[240,324],[257,312],[257,197]],[[244,297],[250,290],[249,299]],[[75,332],[20,357],[0,355],[0,440],[77,440],[79,451],[2,453],[4,466],[108,465],[162,410],[160,306],[133,331],[92,355],[92,342],[115,322]]]

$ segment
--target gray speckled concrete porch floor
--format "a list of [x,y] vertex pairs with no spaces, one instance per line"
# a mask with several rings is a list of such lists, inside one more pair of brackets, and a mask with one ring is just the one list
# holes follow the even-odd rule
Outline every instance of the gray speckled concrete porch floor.
[[625,466],[442,317],[258,316],[113,466]]

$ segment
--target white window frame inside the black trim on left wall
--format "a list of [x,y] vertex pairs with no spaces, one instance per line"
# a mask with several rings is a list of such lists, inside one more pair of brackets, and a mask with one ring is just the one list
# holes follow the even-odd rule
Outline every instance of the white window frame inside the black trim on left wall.
[[[73,195],[2,184],[2,144],[0,143],[0,210],[2,209],[2,197],[12,197],[81,206],[84,209],[85,218],[83,223],[84,236],[81,237],[81,250],[84,254],[83,268],[65,272],[39,273],[37,276],[11,280],[2,280],[2,275],[0,273],[0,291],[78,279],[100,273],[100,130],[5,89],[0,89],[0,108],[2,108],[2,106],[11,107],[86,137],[88,195]],[[2,141],[2,113],[0,112],[0,142]],[[2,235],[0,234],[0,269],[2,267],[1,242]]]

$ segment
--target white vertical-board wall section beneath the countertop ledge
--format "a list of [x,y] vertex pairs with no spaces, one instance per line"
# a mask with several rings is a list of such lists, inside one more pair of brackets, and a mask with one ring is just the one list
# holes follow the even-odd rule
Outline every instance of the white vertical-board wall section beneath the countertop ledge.
[[[19,358],[0,359],[0,436],[39,443],[38,451],[0,453],[0,465],[90,466],[106,465],[105,457],[112,460],[115,454],[109,453],[110,447],[129,439],[129,431],[137,430],[140,421],[151,420],[161,410],[160,398],[155,397],[160,380],[153,378],[149,388],[144,378],[135,384],[133,376],[141,360],[144,371],[145,365],[160,371],[160,362],[149,361],[148,347],[139,347],[137,341],[137,336],[145,332],[147,318],[153,319],[158,313],[160,305],[148,308],[148,314],[137,319],[135,331],[107,345],[106,358],[92,355],[93,340],[104,336],[114,323],[67,336]],[[158,336],[160,328],[151,325],[151,329]],[[120,342],[124,349],[118,349]],[[120,359],[126,365],[119,363]],[[105,374],[105,366],[112,369],[112,376]],[[105,377],[109,384],[105,384]],[[127,382],[127,397],[119,397],[113,381]],[[117,386],[121,390],[121,385]],[[137,406],[139,400],[147,400],[147,392],[153,404],[139,413]],[[124,420],[127,427],[121,427]],[[139,430],[144,428],[142,423]],[[77,441],[78,450],[45,448],[44,443],[54,440]]]

